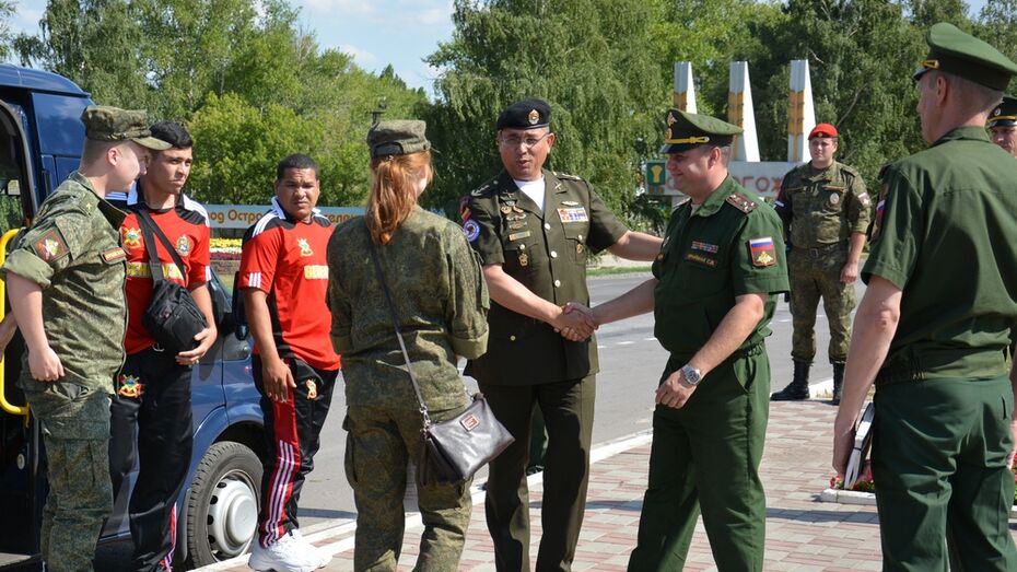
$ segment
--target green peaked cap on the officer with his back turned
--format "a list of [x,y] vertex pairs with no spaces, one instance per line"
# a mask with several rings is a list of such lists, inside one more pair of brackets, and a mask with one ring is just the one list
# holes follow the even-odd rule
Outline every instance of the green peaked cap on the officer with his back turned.
[[928,70],[939,70],[993,90],[1005,91],[1010,78],[1017,74],[1017,63],[954,24],[940,22],[933,25],[925,42],[928,44],[928,56],[919,63],[914,81],[919,81]]

